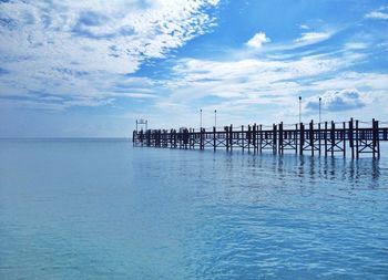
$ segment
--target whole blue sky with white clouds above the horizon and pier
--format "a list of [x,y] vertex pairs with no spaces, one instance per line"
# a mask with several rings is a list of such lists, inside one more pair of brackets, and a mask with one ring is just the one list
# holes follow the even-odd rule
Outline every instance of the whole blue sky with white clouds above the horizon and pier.
[[388,121],[388,1],[0,0],[0,137]]

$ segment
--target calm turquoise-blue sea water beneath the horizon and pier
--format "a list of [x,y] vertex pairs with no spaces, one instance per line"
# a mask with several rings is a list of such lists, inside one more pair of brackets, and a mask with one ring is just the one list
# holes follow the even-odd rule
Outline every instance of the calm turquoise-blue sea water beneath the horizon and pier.
[[388,279],[388,154],[2,139],[0,279]]

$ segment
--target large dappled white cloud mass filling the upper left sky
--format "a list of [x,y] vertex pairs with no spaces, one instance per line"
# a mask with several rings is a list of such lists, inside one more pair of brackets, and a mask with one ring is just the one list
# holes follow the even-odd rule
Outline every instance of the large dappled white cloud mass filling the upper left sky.
[[74,101],[89,96],[93,105],[93,97],[105,96],[144,61],[165,58],[171,50],[208,32],[215,19],[207,8],[217,3],[0,2],[0,63],[6,71],[0,75],[0,95],[49,92]]

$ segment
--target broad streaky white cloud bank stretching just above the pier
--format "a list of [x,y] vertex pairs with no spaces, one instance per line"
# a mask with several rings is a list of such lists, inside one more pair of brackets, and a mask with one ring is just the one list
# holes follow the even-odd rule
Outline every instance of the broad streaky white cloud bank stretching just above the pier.
[[306,114],[314,113],[316,96],[324,98],[327,113],[369,107],[374,100],[386,100],[388,75],[349,71],[366,59],[357,50],[278,60],[180,60],[173,69],[175,79],[164,84],[172,94],[156,104],[166,114],[171,104],[187,111],[202,104],[237,121],[257,121],[253,116],[264,112],[272,121],[294,120],[298,95],[308,102]]

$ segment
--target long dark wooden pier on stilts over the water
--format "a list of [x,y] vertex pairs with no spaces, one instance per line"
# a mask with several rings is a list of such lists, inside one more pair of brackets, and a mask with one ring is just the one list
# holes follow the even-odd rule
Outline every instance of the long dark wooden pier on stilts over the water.
[[233,127],[146,129],[133,132],[135,146],[181,148],[181,149],[226,149],[236,148],[253,153],[270,151],[284,154],[347,156],[359,158],[360,154],[380,157],[380,142],[388,141],[388,127],[380,127],[379,121],[324,122],[284,125],[283,123]]

